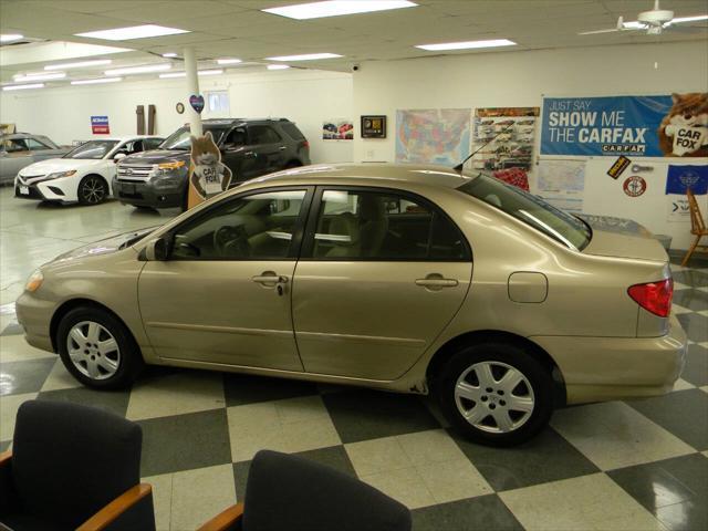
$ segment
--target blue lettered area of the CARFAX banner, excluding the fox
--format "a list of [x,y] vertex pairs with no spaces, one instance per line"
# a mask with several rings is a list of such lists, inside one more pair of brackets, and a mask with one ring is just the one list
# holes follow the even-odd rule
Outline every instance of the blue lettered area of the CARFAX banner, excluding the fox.
[[662,123],[673,106],[668,95],[545,97],[541,155],[675,156]]

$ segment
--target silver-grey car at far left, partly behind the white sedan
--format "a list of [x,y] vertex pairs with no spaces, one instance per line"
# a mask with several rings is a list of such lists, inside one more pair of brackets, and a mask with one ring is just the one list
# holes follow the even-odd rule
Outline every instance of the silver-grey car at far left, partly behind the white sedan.
[[14,133],[0,136],[0,184],[13,183],[18,171],[46,158],[61,157],[71,150],[43,135]]

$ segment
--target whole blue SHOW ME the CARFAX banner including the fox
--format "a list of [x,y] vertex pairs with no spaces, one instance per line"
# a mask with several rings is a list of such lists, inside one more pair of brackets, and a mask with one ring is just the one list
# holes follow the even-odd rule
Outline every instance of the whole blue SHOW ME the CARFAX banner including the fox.
[[545,97],[541,155],[708,156],[708,94]]

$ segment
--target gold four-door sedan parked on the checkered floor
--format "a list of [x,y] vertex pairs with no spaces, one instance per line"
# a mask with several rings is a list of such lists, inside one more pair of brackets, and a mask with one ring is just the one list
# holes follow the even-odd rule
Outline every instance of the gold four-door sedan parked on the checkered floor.
[[563,404],[666,393],[686,336],[662,246],[483,174],[321,165],[35,271],[27,341],[95,388],[144,364],[434,393],[494,445]]

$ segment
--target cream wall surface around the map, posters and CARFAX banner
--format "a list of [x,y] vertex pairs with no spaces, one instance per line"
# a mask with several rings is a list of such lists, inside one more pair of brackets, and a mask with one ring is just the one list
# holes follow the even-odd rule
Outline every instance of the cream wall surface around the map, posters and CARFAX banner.
[[[694,41],[366,62],[353,75],[355,119],[362,114],[388,116],[386,139],[362,139],[355,135],[354,159],[393,162],[396,110],[540,107],[543,95],[708,92],[708,43]],[[537,143],[538,138],[539,135]],[[622,183],[597,170],[608,167],[608,163],[604,166],[603,162],[589,163],[584,211],[635,219],[655,233],[671,235],[673,247],[685,249],[690,239],[688,223],[667,221],[664,196],[667,162],[653,159],[652,163],[655,171],[643,175],[648,181],[647,191],[634,199],[624,195]],[[708,160],[694,158],[681,163],[708,164]],[[531,185],[533,191],[533,176]],[[708,210],[708,205],[701,207],[704,211]]]

